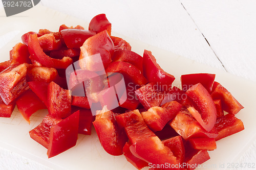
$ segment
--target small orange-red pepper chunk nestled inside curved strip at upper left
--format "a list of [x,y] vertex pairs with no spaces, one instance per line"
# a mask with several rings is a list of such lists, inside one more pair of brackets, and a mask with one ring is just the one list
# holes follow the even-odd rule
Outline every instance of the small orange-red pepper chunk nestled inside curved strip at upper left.
[[55,39],[53,33],[38,37],[38,42],[44,51],[59,50],[62,45],[60,40]]

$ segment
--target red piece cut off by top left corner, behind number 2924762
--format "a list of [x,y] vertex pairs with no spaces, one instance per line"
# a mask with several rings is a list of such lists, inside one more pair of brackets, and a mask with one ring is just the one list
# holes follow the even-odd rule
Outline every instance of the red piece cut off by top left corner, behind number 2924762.
[[40,0],[2,0],[6,16],[12,16],[36,6]]

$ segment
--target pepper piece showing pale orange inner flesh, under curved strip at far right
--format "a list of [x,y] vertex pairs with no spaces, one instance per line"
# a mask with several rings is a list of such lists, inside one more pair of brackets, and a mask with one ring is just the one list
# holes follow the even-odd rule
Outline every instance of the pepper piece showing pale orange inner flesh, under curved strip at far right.
[[188,138],[215,138],[218,136],[216,128],[212,128],[211,131],[207,132],[193,116],[190,116],[185,111],[180,111],[169,124],[185,140]]

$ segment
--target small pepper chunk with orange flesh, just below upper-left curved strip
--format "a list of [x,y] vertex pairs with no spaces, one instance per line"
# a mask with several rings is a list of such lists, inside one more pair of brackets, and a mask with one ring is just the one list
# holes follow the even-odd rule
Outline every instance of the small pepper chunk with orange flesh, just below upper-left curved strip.
[[55,68],[32,66],[27,70],[27,81],[41,81],[50,83],[56,79],[58,72]]

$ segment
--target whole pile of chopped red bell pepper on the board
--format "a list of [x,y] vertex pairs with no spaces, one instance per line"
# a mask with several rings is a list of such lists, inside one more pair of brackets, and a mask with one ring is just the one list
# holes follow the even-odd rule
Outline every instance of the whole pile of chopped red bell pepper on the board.
[[[138,169],[190,170],[210,159],[217,140],[244,129],[236,117],[243,106],[214,74],[182,75],[182,89],[172,86],[175,77],[150,51],[141,57],[111,35],[105,14],[95,16],[89,30],[62,25],[58,32],[28,32],[22,42],[0,63],[0,116],[11,117],[16,105],[30,123],[33,113],[48,109],[29,134],[49,158],[74,147],[78,133],[91,135],[93,125],[106,152],[124,155]],[[92,57],[97,54],[101,63]],[[118,84],[114,73],[125,82],[121,96],[109,90]],[[92,95],[79,93],[84,84]],[[116,98],[118,107],[109,110]],[[100,108],[96,116],[92,105]]]

